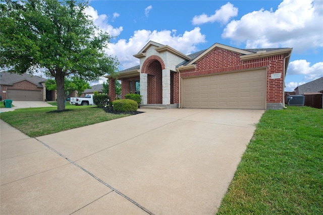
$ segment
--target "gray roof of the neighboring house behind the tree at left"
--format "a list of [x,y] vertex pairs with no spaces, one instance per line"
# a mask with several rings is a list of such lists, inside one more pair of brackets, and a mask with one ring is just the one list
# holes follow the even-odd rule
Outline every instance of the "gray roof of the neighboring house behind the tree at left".
[[47,81],[47,79],[41,78],[39,76],[33,76],[29,74],[15,74],[15,73],[8,73],[6,71],[0,72],[0,83],[1,85],[13,85],[18,82],[28,81],[32,84],[36,85],[37,87],[43,87],[41,83]]

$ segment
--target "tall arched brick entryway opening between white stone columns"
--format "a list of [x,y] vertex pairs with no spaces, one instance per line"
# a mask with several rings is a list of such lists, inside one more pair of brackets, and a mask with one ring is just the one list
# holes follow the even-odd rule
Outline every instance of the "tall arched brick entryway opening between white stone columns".
[[163,104],[163,73],[158,60],[147,65],[147,104]]

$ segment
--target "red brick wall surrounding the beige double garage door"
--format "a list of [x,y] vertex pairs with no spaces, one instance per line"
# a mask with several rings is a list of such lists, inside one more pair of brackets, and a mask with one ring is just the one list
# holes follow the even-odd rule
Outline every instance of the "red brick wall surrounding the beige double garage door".
[[[196,62],[196,69],[181,71],[181,78],[260,67],[267,67],[266,103],[283,103],[284,55],[242,61],[239,53],[215,48]],[[271,79],[274,73],[281,73],[281,78]]]

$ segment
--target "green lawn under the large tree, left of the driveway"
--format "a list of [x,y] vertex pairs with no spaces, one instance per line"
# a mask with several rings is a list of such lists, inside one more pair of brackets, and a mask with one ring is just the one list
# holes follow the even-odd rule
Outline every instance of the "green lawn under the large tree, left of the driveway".
[[0,118],[28,136],[36,137],[129,115],[106,113],[96,106],[67,104],[66,109],[68,111],[51,112],[57,107],[22,108],[3,112]]

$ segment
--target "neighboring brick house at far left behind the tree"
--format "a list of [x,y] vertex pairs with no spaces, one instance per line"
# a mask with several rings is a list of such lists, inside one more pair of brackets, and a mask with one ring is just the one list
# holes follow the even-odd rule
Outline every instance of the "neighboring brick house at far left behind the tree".
[[0,86],[2,99],[14,101],[44,101],[47,79],[29,74],[14,74],[3,71],[0,73]]

